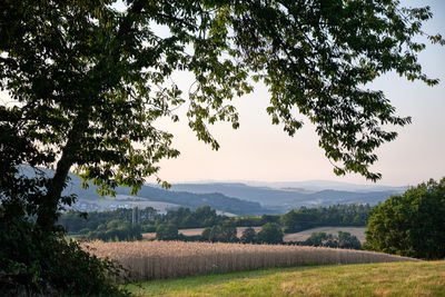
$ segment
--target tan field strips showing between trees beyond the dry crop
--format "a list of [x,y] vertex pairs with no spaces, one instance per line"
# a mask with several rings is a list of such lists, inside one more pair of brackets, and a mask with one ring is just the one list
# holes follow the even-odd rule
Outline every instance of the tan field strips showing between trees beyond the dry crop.
[[[246,230],[247,227],[237,227],[237,236],[238,238],[241,237],[243,231]],[[257,232],[261,230],[261,227],[253,227]],[[338,231],[345,231],[345,232],[350,232],[352,235],[357,236],[358,240],[360,242],[365,242],[365,227],[318,227],[318,228],[313,228],[313,229],[307,229],[300,232],[296,234],[286,234],[284,237],[284,241],[304,241],[313,232],[327,232],[327,234],[334,234],[337,235]],[[180,229],[179,232],[184,234],[186,236],[195,236],[195,235],[201,235],[204,228],[194,228],[194,229]],[[148,234],[142,234],[144,238],[150,239],[155,238],[156,234],[155,232],[148,232]]]

